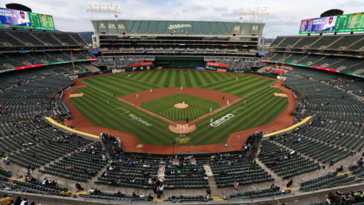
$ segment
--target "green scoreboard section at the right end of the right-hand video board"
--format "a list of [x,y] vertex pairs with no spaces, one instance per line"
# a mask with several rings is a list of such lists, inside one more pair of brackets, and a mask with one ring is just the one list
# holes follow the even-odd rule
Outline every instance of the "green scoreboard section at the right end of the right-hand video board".
[[335,32],[364,31],[364,13],[338,16]]

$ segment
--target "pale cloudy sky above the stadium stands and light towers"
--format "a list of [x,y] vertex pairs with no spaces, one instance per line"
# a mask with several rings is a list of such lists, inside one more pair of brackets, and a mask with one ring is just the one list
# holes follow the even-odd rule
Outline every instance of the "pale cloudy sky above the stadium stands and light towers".
[[[131,20],[195,20],[239,22],[238,9],[267,7],[263,36],[298,35],[302,19],[320,17],[330,9],[341,9],[344,14],[364,12],[363,0],[0,0],[0,6],[18,3],[35,13],[53,15],[55,27],[61,31],[93,31],[92,15],[86,12],[86,2],[116,4],[120,6],[118,19]],[[93,15],[93,19],[108,19],[106,14]],[[110,15],[110,19],[115,19]],[[243,17],[243,21],[248,21]],[[254,22],[255,17],[250,18]],[[258,17],[258,22],[263,22]]]

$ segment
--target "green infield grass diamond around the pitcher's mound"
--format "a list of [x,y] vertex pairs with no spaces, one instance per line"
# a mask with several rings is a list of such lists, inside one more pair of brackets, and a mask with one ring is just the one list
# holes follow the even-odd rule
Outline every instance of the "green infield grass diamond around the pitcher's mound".
[[[175,108],[177,103],[187,103],[187,108]],[[189,121],[197,119],[210,112],[210,108],[215,110],[220,107],[219,103],[199,98],[188,94],[173,94],[163,98],[154,99],[143,103],[142,108],[156,113],[172,121]]]

